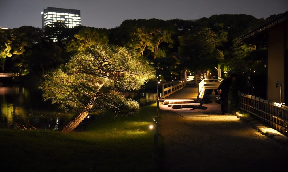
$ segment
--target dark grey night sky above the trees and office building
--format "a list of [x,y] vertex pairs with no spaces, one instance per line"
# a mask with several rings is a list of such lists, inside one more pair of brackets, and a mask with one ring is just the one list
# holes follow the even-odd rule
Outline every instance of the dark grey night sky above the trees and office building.
[[46,7],[81,10],[81,25],[114,28],[125,19],[199,19],[213,14],[267,18],[288,10],[288,0],[0,0],[0,26],[41,27]]

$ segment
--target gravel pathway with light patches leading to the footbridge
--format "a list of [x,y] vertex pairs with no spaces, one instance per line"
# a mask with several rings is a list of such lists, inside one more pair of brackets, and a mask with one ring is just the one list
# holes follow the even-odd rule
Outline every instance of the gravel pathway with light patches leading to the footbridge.
[[[161,105],[164,142],[162,171],[283,171],[285,147],[261,135],[232,115],[218,115],[209,104],[208,117],[182,117]],[[216,113],[216,114],[215,114]]]

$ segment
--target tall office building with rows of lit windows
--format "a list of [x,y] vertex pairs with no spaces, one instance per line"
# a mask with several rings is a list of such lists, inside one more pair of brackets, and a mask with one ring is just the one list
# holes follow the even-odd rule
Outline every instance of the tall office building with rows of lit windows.
[[80,10],[47,7],[42,12],[42,28],[54,22],[65,23],[69,28],[81,24]]

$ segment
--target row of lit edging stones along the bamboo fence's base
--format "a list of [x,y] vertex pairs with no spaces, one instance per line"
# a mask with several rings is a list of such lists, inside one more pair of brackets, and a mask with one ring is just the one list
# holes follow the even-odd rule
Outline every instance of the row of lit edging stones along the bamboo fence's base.
[[246,122],[249,126],[257,130],[258,132],[260,132],[261,134],[267,136],[268,138],[271,138],[275,142],[280,143],[282,146],[285,146],[286,150],[288,151],[288,138],[284,136],[282,133],[264,125],[263,123],[252,117],[242,117],[239,111],[233,111],[233,114],[243,122]]

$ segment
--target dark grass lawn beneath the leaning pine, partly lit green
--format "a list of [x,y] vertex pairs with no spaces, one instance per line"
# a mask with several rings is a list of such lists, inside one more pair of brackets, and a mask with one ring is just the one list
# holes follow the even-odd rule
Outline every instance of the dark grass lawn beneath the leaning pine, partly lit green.
[[156,103],[136,116],[96,116],[82,132],[0,130],[1,171],[155,171]]

